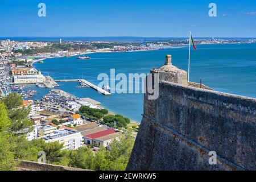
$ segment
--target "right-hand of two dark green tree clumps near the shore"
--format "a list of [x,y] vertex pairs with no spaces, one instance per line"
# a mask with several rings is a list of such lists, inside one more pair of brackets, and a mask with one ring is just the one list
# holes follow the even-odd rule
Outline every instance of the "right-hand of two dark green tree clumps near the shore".
[[130,119],[123,117],[120,114],[109,114],[103,118],[102,123],[110,127],[126,127],[130,123]]

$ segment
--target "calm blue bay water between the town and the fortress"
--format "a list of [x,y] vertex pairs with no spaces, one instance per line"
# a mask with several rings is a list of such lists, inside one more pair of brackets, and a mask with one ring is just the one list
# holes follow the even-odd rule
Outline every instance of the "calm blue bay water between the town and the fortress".
[[[172,55],[172,64],[180,69],[188,69],[188,47],[139,52],[92,53],[90,60],[77,60],[77,56],[59,57],[35,63],[43,75],[55,79],[84,78],[98,84],[100,73],[115,74],[149,73],[151,68],[164,64],[165,55]],[[200,82],[214,90],[256,98],[256,44],[218,44],[197,45],[191,51],[191,81]],[[118,113],[141,122],[143,113],[143,94],[112,94],[104,96],[91,88],[76,88],[78,82],[60,82],[64,91],[77,97],[90,97],[102,103],[113,113]],[[40,99],[50,89],[36,88]]]

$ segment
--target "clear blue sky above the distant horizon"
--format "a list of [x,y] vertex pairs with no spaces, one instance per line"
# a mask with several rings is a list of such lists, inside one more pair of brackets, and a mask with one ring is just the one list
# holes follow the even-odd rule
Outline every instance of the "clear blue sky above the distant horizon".
[[[217,17],[208,15],[211,2]],[[256,37],[256,1],[0,0],[0,23],[0,37]]]

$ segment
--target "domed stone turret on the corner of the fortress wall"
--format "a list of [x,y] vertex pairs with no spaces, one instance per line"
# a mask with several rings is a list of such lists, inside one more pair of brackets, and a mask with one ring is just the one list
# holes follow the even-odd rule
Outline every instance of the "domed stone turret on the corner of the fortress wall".
[[151,73],[159,73],[159,81],[188,85],[187,72],[172,65],[171,55],[166,55],[166,63],[160,68],[152,69]]

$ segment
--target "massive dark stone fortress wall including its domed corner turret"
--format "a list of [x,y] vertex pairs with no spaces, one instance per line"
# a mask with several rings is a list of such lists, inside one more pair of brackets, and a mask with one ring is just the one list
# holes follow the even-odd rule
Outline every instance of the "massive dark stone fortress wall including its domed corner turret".
[[[159,97],[144,113],[127,170],[255,170],[256,100],[187,81],[166,56]],[[209,164],[209,151],[217,164]]]

